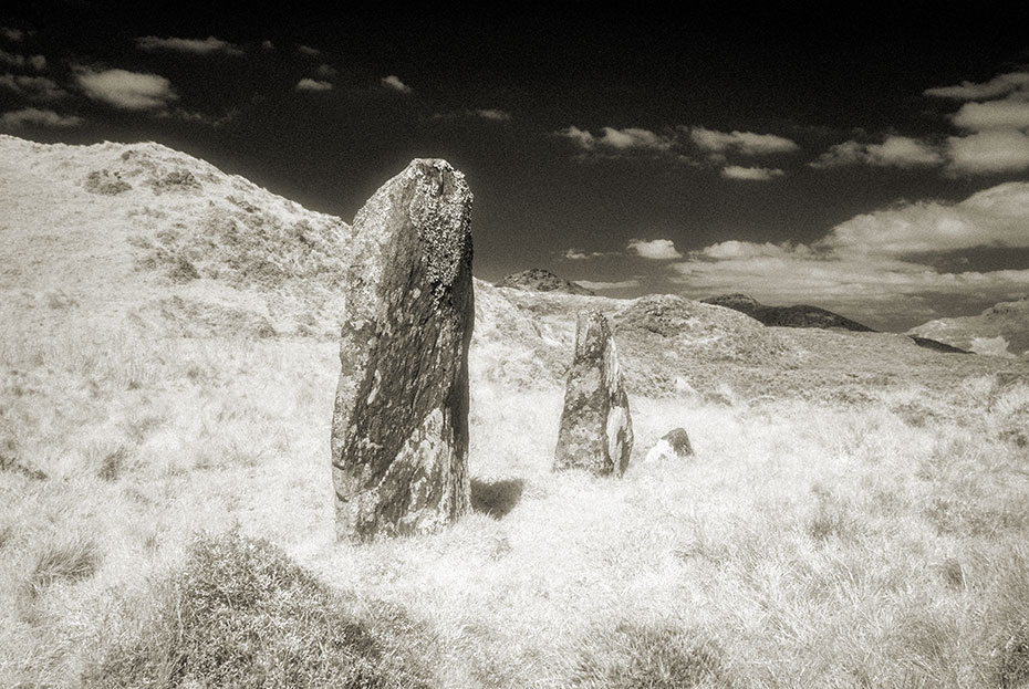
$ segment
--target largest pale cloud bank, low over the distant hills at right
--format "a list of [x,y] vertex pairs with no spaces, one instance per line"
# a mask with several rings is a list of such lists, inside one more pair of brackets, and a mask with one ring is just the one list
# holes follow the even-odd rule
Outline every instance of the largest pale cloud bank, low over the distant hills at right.
[[936,301],[1023,294],[1029,270],[947,272],[925,257],[1029,248],[1027,212],[1029,182],[1008,182],[959,203],[907,203],[858,216],[810,246],[720,242],[672,269],[693,296],[747,292],[767,303],[814,301],[873,326],[906,328],[915,325],[910,319],[918,304],[928,320]]

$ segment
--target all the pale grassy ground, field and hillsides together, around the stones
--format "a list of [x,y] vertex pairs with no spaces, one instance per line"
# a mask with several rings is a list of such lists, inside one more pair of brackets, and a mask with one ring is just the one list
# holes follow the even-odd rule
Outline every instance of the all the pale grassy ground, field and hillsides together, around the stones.
[[[0,144],[0,686],[1029,680],[1025,363],[477,282],[475,512],[337,543],[347,226],[152,145]],[[621,480],[550,471],[586,306],[626,369]],[[696,456],[643,463],[676,426]]]

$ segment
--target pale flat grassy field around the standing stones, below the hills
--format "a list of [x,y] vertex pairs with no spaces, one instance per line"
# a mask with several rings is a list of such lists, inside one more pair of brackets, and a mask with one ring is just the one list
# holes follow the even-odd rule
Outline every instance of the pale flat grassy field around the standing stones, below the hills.
[[[332,528],[333,343],[8,332],[0,686],[1029,681],[1019,376],[932,355],[957,383],[631,388],[634,463],[599,480],[550,471],[560,382],[498,382],[487,354],[476,512],[351,545]],[[675,426],[696,457],[642,463]]]

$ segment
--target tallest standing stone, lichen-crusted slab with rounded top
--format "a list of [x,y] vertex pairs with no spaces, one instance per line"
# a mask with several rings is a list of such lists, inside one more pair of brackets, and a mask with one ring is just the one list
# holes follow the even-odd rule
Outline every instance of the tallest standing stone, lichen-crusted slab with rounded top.
[[332,478],[341,539],[426,533],[470,509],[471,192],[416,159],[357,213]]

